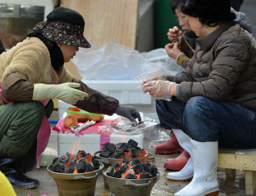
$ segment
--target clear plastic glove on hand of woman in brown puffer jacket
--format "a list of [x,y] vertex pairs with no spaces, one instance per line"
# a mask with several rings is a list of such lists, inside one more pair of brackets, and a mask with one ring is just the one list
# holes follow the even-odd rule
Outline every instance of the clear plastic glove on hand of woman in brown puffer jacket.
[[171,101],[173,84],[175,83],[166,80],[154,80],[145,83],[142,87],[144,93],[149,93],[156,99]]

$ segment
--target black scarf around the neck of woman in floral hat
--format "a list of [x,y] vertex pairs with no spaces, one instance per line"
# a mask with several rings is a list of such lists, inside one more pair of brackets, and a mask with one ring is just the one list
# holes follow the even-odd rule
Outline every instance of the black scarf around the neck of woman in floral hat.
[[37,37],[38,39],[43,41],[45,46],[48,48],[48,51],[50,53],[51,63],[55,71],[57,71],[59,67],[64,65],[64,57],[59,46],[57,45],[56,42],[48,40],[46,37],[44,37],[43,30],[36,30],[36,31],[29,30],[27,32],[27,36]]

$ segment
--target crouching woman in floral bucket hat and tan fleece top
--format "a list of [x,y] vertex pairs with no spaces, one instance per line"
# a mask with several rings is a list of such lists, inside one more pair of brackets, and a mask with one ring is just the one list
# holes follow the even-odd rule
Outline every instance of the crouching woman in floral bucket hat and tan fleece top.
[[50,135],[53,98],[88,112],[141,121],[134,107],[121,106],[117,99],[89,88],[64,66],[79,47],[91,47],[84,26],[75,10],[56,8],[27,39],[0,55],[0,170],[14,188],[39,185],[22,173],[39,167],[38,156]]

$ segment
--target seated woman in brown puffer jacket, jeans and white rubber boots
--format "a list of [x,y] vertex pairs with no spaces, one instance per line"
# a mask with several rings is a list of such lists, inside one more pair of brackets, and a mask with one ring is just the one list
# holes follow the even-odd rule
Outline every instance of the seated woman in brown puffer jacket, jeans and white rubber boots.
[[199,37],[194,56],[182,74],[142,82],[144,93],[172,96],[163,118],[191,156],[185,167],[193,168],[193,179],[174,196],[218,195],[218,148],[256,148],[256,48],[230,3],[181,5]]

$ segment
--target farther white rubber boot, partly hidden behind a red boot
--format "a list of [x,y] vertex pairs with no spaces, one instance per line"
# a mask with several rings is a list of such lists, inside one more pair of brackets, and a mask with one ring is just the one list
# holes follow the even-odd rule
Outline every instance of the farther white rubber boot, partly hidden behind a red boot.
[[193,178],[193,160],[192,160],[192,146],[190,137],[185,134],[181,129],[172,129],[180,146],[188,152],[190,155],[187,164],[180,170],[175,172],[169,172],[167,179],[170,181],[190,181]]

